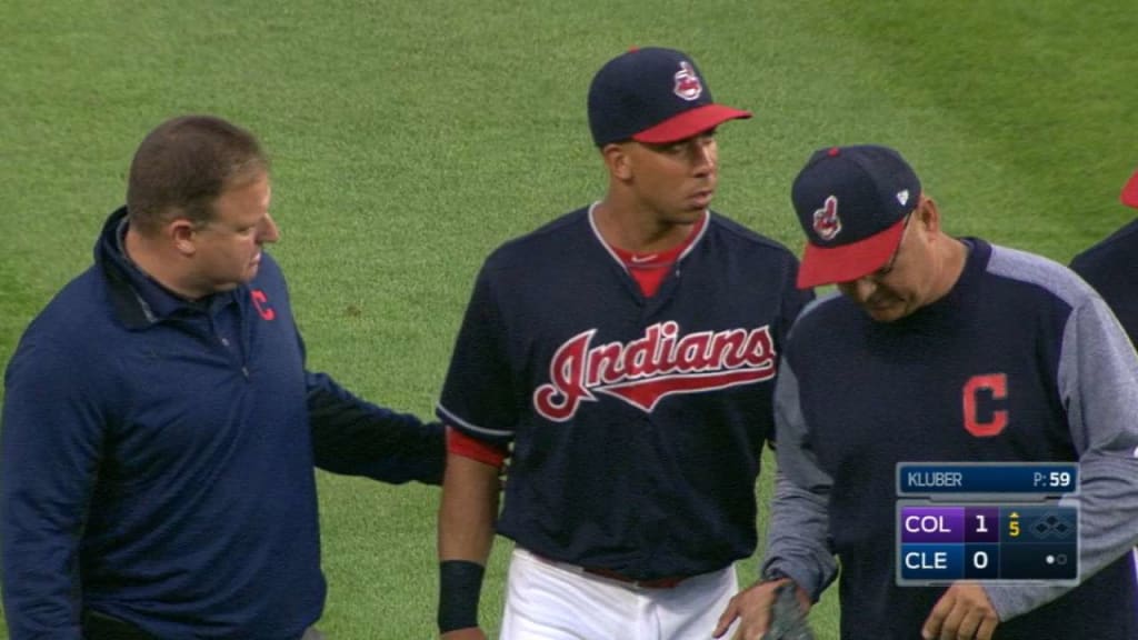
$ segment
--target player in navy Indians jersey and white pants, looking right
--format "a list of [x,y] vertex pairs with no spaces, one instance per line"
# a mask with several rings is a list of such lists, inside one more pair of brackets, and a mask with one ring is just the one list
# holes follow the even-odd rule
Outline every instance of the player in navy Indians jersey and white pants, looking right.
[[495,531],[516,542],[502,638],[708,638],[735,593],[810,297],[791,252],[708,208],[716,128],[750,115],[679,51],[618,56],[588,93],[604,199],[487,259],[438,404],[444,638],[484,638]]

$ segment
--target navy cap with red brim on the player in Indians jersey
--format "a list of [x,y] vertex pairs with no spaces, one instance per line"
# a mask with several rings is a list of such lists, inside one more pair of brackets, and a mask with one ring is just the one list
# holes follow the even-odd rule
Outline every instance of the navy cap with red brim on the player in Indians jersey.
[[715,104],[695,63],[674,49],[630,49],[601,67],[588,88],[588,126],[597,147],[675,142],[747,117],[750,112]]

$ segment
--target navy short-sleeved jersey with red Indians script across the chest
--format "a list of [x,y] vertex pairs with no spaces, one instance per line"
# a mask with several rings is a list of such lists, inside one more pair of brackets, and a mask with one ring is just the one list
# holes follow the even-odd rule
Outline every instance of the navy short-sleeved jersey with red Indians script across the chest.
[[756,545],[798,263],[708,214],[645,298],[589,211],[486,261],[438,415],[512,443],[497,531],[530,551],[641,580],[723,568]]

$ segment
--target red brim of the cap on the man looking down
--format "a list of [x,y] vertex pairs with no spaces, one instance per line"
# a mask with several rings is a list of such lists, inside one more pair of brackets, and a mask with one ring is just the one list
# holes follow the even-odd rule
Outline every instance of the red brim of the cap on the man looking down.
[[905,219],[864,240],[834,247],[806,244],[798,270],[798,288],[849,282],[868,276],[889,261],[905,232]]

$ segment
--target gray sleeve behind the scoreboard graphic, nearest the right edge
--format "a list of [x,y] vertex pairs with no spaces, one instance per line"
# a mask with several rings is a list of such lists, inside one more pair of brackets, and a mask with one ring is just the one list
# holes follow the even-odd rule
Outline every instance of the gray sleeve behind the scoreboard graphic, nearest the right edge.
[[[1080,577],[1086,580],[1138,542],[1138,358],[1097,295],[1081,296],[1063,335],[1058,391],[1079,453]],[[1066,586],[989,585],[1006,621],[1045,605]]]

